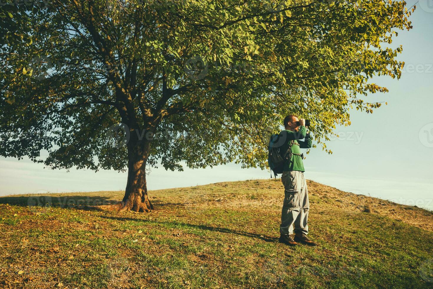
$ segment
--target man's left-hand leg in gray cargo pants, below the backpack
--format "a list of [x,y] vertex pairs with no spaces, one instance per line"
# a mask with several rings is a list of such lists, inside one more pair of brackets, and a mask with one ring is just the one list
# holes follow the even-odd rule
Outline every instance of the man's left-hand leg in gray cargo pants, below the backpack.
[[280,234],[293,234],[293,224],[301,211],[299,199],[299,171],[283,172],[281,182],[284,185],[284,201],[281,210]]

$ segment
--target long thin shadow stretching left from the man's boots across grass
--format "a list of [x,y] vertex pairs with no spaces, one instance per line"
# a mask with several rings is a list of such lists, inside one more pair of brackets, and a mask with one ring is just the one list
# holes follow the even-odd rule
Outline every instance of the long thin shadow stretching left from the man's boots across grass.
[[110,217],[110,216],[100,216],[100,218],[105,219],[112,219],[117,221],[139,221],[139,222],[149,222],[149,223],[158,223],[158,224],[168,224],[173,227],[178,226],[187,226],[194,229],[200,229],[200,230],[207,230],[207,231],[216,231],[220,233],[227,233],[227,234],[236,234],[239,236],[245,236],[245,237],[251,237],[263,240],[265,242],[277,242],[278,237],[269,237],[262,234],[253,234],[249,232],[239,231],[239,230],[233,230],[228,228],[222,228],[222,227],[211,227],[206,225],[194,225],[194,224],[188,224],[188,223],[181,223],[177,221],[171,221],[171,222],[161,222],[161,221],[154,221],[154,220],[145,220],[145,219],[136,219],[136,218],[122,218],[122,217]]

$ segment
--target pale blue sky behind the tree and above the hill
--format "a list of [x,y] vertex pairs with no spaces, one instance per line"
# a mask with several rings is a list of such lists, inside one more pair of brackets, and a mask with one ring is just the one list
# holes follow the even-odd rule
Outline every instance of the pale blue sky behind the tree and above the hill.
[[[352,125],[337,127],[341,137],[327,142],[333,154],[318,146],[307,155],[307,179],[347,192],[433,209],[433,0],[421,1],[410,18],[414,29],[401,31],[394,39],[393,46],[403,45],[403,53],[398,56],[406,63],[401,79],[374,78],[389,93],[365,98],[369,102],[387,101],[388,105],[373,114],[352,110]],[[152,169],[148,188],[270,177],[269,171],[241,169],[235,164],[184,169]],[[28,159],[0,158],[0,195],[124,190],[125,186],[126,173],[53,171]]]

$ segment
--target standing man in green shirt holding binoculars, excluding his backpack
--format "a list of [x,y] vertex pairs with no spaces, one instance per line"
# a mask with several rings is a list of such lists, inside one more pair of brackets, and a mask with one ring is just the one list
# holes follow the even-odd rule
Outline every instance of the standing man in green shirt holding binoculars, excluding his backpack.
[[[281,182],[284,185],[284,202],[281,210],[280,238],[278,242],[290,246],[299,243],[316,246],[316,243],[307,238],[308,234],[308,202],[307,182],[304,178],[304,164],[302,162],[301,149],[311,147],[310,133],[307,133],[305,120],[295,115],[284,118],[285,130],[280,135],[284,143],[281,152],[286,152],[291,141],[294,141],[291,152],[293,155],[284,164]],[[305,141],[301,141],[305,138]],[[294,230],[293,226],[294,225]],[[295,236],[293,237],[293,233]]]

